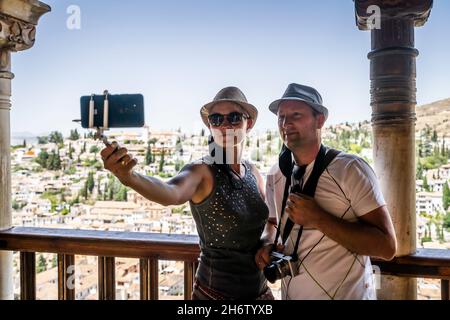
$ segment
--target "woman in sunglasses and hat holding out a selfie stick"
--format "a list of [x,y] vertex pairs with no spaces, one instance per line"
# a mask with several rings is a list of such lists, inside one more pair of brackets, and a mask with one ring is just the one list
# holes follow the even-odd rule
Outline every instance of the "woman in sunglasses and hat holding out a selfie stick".
[[136,160],[116,144],[101,152],[105,168],[151,201],[189,201],[201,248],[193,299],[273,299],[254,259],[268,219],[264,184],[255,166],[241,159],[258,111],[241,90],[227,87],[200,114],[211,131],[210,155],[170,181],[134,172]]

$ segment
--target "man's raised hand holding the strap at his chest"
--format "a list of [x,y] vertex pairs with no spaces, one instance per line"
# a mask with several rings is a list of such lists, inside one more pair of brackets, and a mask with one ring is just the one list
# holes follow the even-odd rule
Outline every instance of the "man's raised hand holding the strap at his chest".
[[305,228],[319,228],[320,219],[327,214],[316,201],[305,195],[291,193],[286,202],[286,213],[296,224]]

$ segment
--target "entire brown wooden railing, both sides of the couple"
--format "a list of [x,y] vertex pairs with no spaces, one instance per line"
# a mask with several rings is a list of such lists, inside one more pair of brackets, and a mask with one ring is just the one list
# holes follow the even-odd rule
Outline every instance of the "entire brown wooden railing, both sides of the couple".
[[[36,252],[58,254],[58,299],[75,299],[67,285],[75,255],[98,256],[99,299],[115,299],[115,258],[140,259],[140,298],[158,299],[158,260],[184,261],[184,297],[191,297],[199,255],[198,237],[137,232],[16,227],[0,232],[0,250],[20,251],[21,299],[36,299]],[[372,259],[382,274],[441,280],[449,300],[450,250],[419,249],[392,261]],[[1,271],[0,271],[1,272]],[[73,273],[70,273],[73,277]]]

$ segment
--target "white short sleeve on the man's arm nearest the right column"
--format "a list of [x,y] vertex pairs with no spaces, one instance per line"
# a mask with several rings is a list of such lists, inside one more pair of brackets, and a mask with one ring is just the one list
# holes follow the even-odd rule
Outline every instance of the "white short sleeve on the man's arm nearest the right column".
[[386,205],[375,172],[364,160],[353,158],[344,172],[344,192],[358,217]]

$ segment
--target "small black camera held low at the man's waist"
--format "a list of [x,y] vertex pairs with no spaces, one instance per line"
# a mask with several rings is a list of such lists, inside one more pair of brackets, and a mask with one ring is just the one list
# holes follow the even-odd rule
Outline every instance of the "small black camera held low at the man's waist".
[[264,268],[264,276],[270,283],[275,283],[286,276],[298,275],[298,259],[276,251],[272,251],[270,259],[270,264]]

